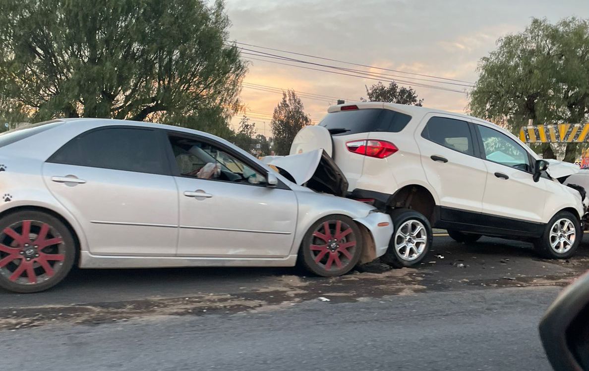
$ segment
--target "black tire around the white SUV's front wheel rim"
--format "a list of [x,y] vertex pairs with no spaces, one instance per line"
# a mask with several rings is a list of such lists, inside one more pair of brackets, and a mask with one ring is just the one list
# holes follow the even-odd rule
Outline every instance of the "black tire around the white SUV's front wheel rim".
[[[560,236],[564,239],[561,240]],[[534,241],[534,247],[538,254],[547,259],[567,259],[577,251],[582,239],[583,230],[578,218],[568,211],[560,211],[546,224],[542,236]],[[553,243],[556,243],[554,248]]]

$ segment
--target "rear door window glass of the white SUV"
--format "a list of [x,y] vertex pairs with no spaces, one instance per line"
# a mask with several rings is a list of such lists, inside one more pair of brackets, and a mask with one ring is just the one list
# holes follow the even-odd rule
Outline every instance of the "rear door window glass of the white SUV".
[[423,128],[421,136],[451,150],[474,155],[472,135],[466,121],[432,117]]

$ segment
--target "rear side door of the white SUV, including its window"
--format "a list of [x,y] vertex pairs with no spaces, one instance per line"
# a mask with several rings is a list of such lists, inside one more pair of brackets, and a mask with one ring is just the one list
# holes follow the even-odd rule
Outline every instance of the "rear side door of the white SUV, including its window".
[[477,157],[478,143],[471,125],[460,117],[428,114],[415,132],[423,170],[428,183],[438,191],[442,211],[482,211],[487,170]]

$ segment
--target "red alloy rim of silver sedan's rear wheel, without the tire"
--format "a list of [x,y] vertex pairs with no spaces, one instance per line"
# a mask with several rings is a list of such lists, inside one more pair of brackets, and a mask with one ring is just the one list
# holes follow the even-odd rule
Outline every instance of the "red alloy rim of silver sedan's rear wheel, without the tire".
[[47,223],[22,220],[0,232],[0,274],[16,284],[47,281],[64,260],[64,240]]

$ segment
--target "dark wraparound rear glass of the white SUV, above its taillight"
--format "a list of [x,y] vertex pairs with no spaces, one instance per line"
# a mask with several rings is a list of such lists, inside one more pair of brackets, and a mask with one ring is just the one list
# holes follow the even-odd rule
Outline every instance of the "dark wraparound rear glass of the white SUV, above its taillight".
[[389,131],[399,132],[411,121],[411,116],[383,108],[340,111],[327,114],[320,126],[326,127],[331,135],[349,135],[358,132]]

